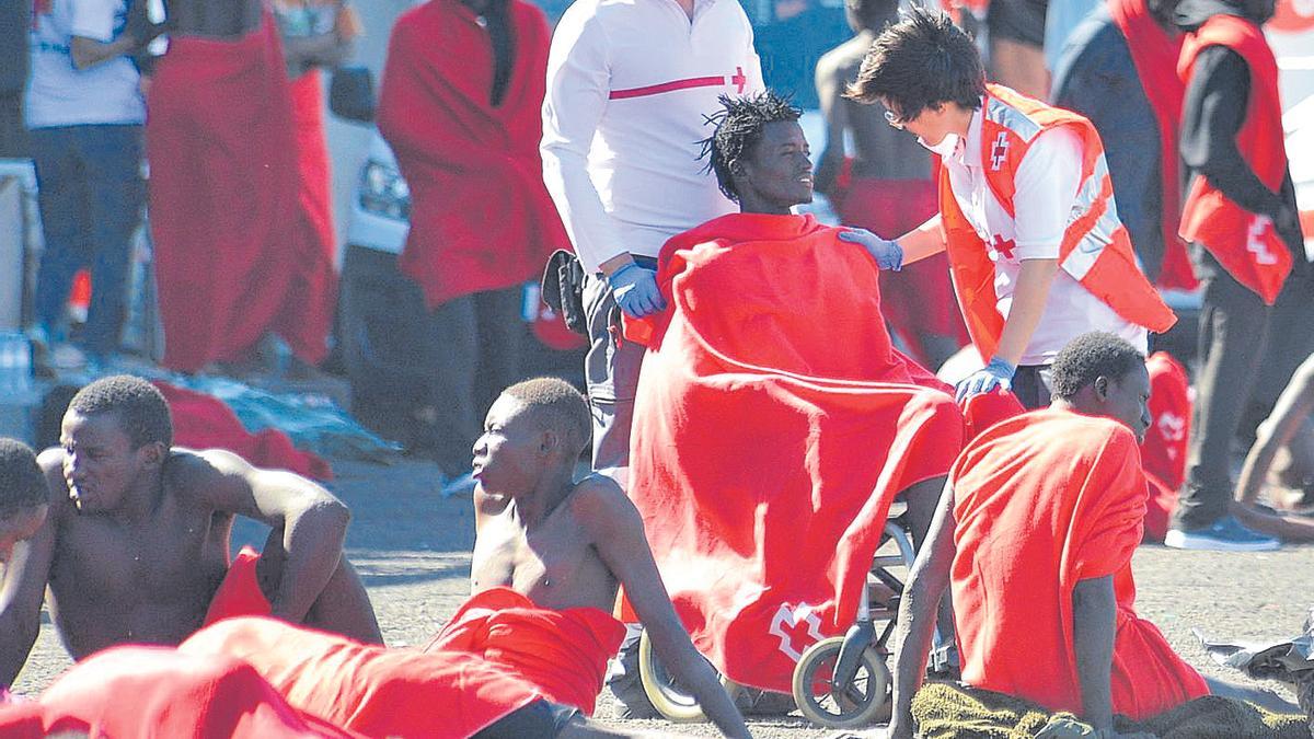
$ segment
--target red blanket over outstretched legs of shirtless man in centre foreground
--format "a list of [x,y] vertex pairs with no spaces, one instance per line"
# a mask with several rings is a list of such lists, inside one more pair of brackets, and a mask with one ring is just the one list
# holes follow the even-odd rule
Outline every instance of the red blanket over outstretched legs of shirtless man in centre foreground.
[[271,618],[221,621],[179,651],[250,663],[292,706],[367,736],[464,739],[540,697],[470,655],[365,646]]

